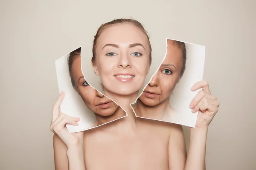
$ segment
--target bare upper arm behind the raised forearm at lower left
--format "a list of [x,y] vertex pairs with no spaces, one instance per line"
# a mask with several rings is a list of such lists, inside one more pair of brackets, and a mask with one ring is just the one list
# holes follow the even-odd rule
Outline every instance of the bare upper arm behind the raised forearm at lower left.
[[68,170],[67,146],[58,135],[53,135],[55,170]]

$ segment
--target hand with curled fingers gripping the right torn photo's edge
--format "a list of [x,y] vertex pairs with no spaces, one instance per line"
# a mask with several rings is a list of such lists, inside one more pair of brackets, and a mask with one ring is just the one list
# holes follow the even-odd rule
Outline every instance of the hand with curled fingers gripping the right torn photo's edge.
[[196,82],[191,90],[196,91],[200,88],[202,90],[192,99],[189,108],[192,109],[192,113],[198,111],[195,127],[208,128],[213,117],[218,112],[220,104],[217,98],[211,94],[207,81]]

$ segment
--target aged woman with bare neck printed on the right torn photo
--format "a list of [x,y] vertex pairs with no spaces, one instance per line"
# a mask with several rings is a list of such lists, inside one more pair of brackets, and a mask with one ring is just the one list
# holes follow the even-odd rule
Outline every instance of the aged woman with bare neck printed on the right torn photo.
[[175,122],[180,112],[170,106],[170,96],[186,68],[184,42],[167,40],[167,54],[133,109],[137,116]]

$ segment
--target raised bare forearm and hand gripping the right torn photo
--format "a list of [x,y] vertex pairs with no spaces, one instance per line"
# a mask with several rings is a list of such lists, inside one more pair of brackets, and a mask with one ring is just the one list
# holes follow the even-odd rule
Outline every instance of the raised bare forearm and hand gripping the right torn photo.
[[189,107],[192,113],[198,112],[195,128],[189,127],[190,139],[185,170],[205,170],[206,139],[209,124],[218,112],[219,102],[212,96],[207,81],[200,81],[191,90],[201,91],[192,99]]

